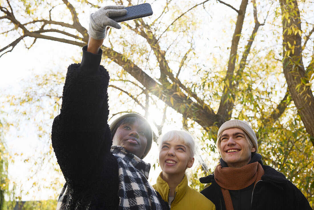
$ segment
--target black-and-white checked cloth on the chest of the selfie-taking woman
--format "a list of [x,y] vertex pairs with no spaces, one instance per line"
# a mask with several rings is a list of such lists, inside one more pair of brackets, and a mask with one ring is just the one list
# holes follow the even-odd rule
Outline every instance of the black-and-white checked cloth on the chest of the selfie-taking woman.
[[119,170],[119,209],[161,209],[160,201],[148,182],[150,164],[121,146],[112,146]]

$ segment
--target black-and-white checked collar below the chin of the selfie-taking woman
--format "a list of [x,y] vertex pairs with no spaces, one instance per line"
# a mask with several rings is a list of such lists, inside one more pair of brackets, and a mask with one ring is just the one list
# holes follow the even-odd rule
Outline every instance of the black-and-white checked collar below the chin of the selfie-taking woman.
[[150,170],[149,163],[144,162],[141,158],[134,155],[132,152],[127,151],[122,146],[111,146],[111,152],[112,154],[122,158],[123,161],[138,169],[144,174],[146,179],[148,179],[148,174]]

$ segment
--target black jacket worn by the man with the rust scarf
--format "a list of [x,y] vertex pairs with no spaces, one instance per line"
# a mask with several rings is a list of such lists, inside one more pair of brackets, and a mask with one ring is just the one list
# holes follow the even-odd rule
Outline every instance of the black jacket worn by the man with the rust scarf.
[[[253,189],[251,198],[252,210],[311,210],[309,202],[301,191],[280,173],[270,166],[262,165],[264,175]],[[225,210],[225,201],[214,174],[199,179],[201,183],[212,183],[201,193],[211,200],[216,210]]]

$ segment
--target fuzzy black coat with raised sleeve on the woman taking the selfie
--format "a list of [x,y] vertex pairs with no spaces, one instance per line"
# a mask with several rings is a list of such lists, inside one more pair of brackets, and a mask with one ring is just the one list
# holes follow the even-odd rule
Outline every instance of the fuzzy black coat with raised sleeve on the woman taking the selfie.
[[[66,185],[57,209],[117,209],[118,163],[108,119],[109,74],[99,54],[83,48],[81,64],[68,67],[60,114],[52,125],[52,146]],[[66,190],[66,193],[63,191]],[[168,209],[158,195],[164,209]]]

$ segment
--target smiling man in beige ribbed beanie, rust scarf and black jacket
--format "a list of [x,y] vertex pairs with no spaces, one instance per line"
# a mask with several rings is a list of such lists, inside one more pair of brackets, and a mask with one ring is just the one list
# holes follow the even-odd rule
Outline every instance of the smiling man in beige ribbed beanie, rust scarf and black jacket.
[[222,124],[216,147],[220,163],[214,174],[200,178],[201,183],[211,183],[201,193],[216,209],[311,209],[283,173],[263,165],[255,132],[247,122],[229,120]]

